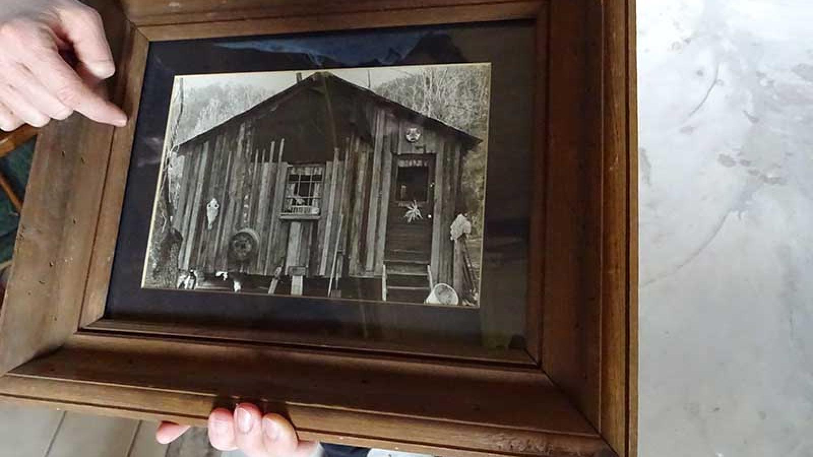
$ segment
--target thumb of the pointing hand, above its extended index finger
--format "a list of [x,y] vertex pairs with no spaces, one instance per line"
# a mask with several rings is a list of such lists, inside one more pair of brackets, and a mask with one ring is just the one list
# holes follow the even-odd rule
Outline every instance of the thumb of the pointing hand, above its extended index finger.
[[100,80],[115,73],[113,55],[104,33],[102,16],[76,2],[75,7],[59,9],[59,21],[64,37],[73,44],[73,50],[81,63]]

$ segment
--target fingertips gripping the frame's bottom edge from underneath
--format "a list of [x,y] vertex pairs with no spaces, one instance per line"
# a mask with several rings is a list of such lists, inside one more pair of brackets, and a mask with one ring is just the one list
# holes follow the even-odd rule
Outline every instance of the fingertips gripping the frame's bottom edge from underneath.
[[[175,441],[189,427],[164,422],[155,438],[162,444]],[[299,441],[293,425],[282,416],[241,403],[232,413],[218,408],[209,416],[209,440],[218,450],[241,450],[248,457],[311,457],[317,442]]]

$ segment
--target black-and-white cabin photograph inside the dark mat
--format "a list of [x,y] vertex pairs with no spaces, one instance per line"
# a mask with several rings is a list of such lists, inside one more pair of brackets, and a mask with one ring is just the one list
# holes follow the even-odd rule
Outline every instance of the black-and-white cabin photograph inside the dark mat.
[[176,76],[145,289],[480,306],[489,63]]

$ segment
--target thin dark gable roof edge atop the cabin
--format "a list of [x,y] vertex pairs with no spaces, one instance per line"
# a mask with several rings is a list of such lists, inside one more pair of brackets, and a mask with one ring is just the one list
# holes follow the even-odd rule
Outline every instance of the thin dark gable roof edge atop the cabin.
[[463,145],[466,146],[467,150],[474,149],[475,146],[479,145],[482,142],[480,138],[465,133],[463,132],[463,130],[460,130],[459,128],[454,128],[449,124],[445,124],[441,120],[437,120],[433,117],[423,115],[420,112],[411,109],[410,107],[402,105],[401,103],[395,102],[386,97],[382,97],[381,95],[376,94],[370,89],[364,89],[359,85],[354,85],[350,81],[346,81],[340,78],[339,76],[334,75],[332,72],[321,71],[315,72],[311,76],[308,76],[304,80],[299,81],[295,85],[292,85],[288,89],[283,90],[279,94],[276,94],[271,98],[267,98],[263,102],[259,102],[257,105],[254,105],[254,107],[251,107],[248,110],[241,112],[240,114],[234,115],[228,120],[224,120],[222,123],[215,125],[215,127],[210,128],[206,132],[199,133],[195,137],[192,137],[189,140],[184,141],[183,143],[180,144],[180,147],[188,145],[189,143],[192,142],[205,140],[223,128],[227,128],[232,124],[239,124],[243,120],[246,120],[254,115],[261,115],[263,110],[276,109],[276,107],[279,107],[281,104],[288,102],[291,98],[295,97],[297,94],[300,94],[303,90],[313,89],[316,87],[316,85],[323,84],[339,85],[341,88],[349,89],[350,91],[362,94],[365,97],[372,98],[373,100],[380,104],[391,107],[394,111],[400,112],[403,116],[410,120],[413,120],[416,123],[426,124],[428,126],[436,128],[437,130],[449,133],[454,137],[459,137],[460,140],[463,141]]

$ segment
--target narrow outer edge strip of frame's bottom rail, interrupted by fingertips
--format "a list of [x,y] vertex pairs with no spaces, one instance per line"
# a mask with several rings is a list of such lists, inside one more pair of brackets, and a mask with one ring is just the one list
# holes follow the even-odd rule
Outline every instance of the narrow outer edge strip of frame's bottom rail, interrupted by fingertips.
[[[41,396],[42,392],[58,392]],[[0,378],[0,395],[16,403],[50,406],[111,417],[175,422],[206,426],[212,395],[145,390],[125,385],[98,385],[54,381],[24,376]],[[104,398],[101,401],[100,398]],[[144,403],[148,398],[150,403]],[[406,450],[448,457],[486,455],[546,457],[610,457],[612,451],[595,435],[533,432],[481,424],[427,421],[379,415],[309,404],[289,404],[266,411],[282,411],[305,440],[349,446]],[[327,431],[332,429],[333,431]]]

